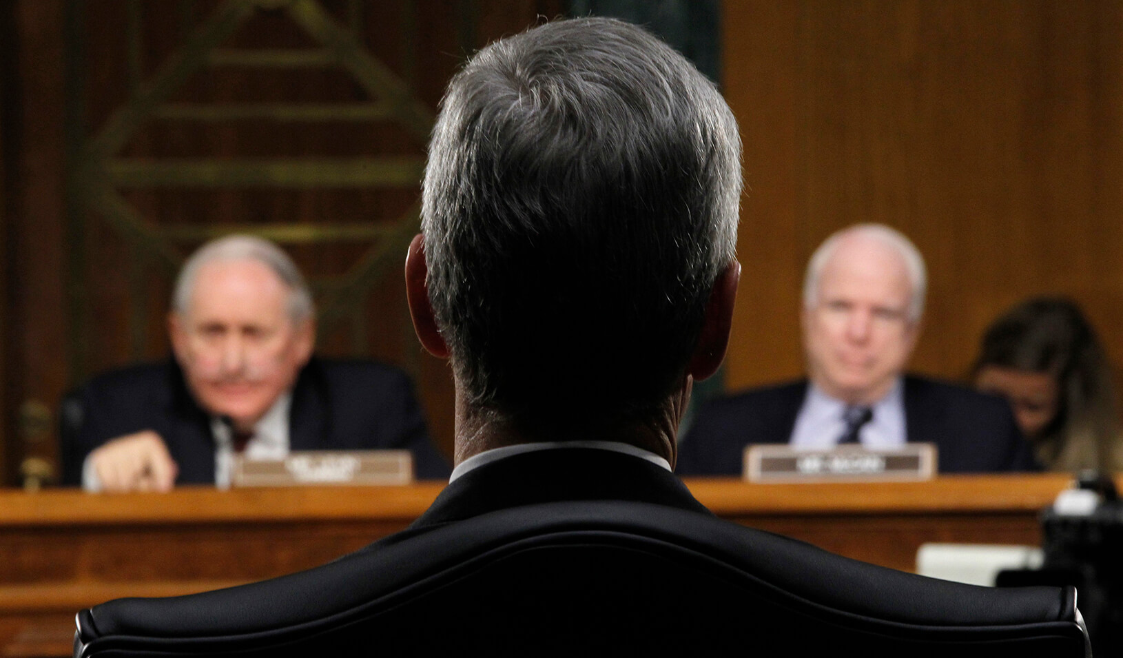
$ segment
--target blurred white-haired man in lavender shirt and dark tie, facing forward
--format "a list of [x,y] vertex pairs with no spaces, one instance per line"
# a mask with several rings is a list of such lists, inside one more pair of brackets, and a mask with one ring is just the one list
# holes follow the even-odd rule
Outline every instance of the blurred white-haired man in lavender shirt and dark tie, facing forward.
[[892,450],[906,442],[935,445],[940,473],[1035,470],[1002,400],[906,372],[926,290],[924,257],[896,229],[859,223],[827,238],[804,276],[806,376],[700,408],[678,473],[737,475],[756,444]]

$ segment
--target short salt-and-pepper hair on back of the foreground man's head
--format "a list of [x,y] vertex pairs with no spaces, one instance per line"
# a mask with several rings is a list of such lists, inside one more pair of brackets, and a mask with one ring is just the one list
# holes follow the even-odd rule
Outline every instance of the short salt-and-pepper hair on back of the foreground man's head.
[[531,424],[658,406],[734,258],[740,189],[724,100],[643,29],[563,20],[477,53],[442,101],[422,210],[467,402]]

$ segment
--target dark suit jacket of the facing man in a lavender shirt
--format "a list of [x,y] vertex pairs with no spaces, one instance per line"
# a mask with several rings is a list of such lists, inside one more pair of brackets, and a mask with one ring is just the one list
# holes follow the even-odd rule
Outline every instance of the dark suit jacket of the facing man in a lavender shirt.
[[[757,389],[703,405],[678,450],[679,475],[740,475],[745,447],[785,444],[807,381]],[[910,442],[935,444],[940,473],[1035,470],[1029,442],[998,397],[922,377],[904,380]]]

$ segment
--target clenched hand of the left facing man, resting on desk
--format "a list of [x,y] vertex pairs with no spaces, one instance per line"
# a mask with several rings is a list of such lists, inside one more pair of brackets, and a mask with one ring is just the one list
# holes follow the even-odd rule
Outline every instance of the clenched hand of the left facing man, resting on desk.
[[118,437],[90,453],[101,491],[171,491],[180,467],[152,430]]

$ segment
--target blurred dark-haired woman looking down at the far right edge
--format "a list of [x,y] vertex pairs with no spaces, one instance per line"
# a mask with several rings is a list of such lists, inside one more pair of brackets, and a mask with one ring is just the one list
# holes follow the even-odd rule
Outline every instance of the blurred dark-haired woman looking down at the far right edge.
[[1111,364],[1080,309],[1026,300],[990,325],[975,387],[1010,400],[1038,460],[1050,470],[1123,470]]

